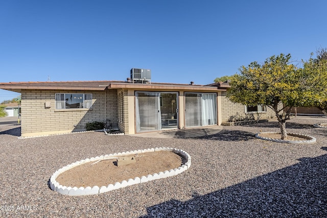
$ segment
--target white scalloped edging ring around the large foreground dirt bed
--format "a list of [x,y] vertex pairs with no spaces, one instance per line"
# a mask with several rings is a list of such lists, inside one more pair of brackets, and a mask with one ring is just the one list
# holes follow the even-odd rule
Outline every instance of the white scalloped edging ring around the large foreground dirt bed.
[[[157,151],[170,151],[174,152],[176,154],[179,154],[183,158],[186,159],[186,163],[183,165],[179,166],[178,168],[170,169],[169,171],[165,172],[159,172],[159,173],[154,173],[152,175],[148,176],[142,176],[141,178],[135,177],[134,179],[128,179],[123,180],[122,182],[115,182],[114,184],[109,184],[107,186],[101,186],[100,188],[98,186],[87,186],[86,188],[84,187],[71,187],[71,186],[62,186],[60,185],[56,179],[57,177],[67,171],[68,169],[71,169],[75,166],[92,162],[92,161],[97,161],[97,160],[102,160],[105,158],[110,158],[110,157],[117,157],[117,156],[125,156],[125,155],[133,155],[133,154],[140,154],[140,153],[146,153],[146,152],[157,152]],[[144,149],[144,150],[135,150],[135,151],[129,151],[129,152],[122,152],[122,153],[114,153],[114,154],[109,154],[109,155],[102,155],[102,156],[97,156],[97,157],[92,157],[92,158],[86,158],[84,160],[76,161],[75,163],[68,164],[67,166],[64,166],[60,169],[58,169],[50,178],[50,187],[52,190],[57,191],[61,193],[62,195],[68,195],[68,196],[86,196],[86,195],[97,195],[98,193],[103,193],[107,191],[111,191],[114,189],[118,188],[123,188],[129,185],[134,185],[138,183],[145,183],[151,180],[155,179],[162,179],[170,176],[175,176],[177,174],[180,174],[186,169],[190,168],[191,166],[191,156],[184,152],[183,150],[179,149],[173,149],[173,148],[152,148],[152,149]]]

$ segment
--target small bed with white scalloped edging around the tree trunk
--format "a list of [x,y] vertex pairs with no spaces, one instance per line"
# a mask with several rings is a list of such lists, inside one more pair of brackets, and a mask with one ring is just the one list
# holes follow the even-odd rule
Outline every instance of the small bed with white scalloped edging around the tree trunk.
[[[281,143],[314,143],[316,142],[316,138],[309,136],[309,135],[303,135],[303,134],[297,134],[297,133],[287,133],[288,139],[279,139],[278,137],[281,137],[281,133],[279,132],[261,132],[256,133],[255,137],[260,138],[267,141],[275,141],[275,142],[281,142]],[[290,137],[291,136],[291,137]]]

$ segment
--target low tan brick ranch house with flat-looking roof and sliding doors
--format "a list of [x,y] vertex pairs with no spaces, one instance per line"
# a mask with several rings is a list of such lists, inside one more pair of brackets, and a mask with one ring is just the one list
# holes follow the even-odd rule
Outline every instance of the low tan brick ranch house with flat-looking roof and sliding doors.
[[231,115],[256,110],[262,118],[270,116],[267,107],[229,102],[228,87],[131,80],[0,83],[1,89],[21,93],[21,136],[83,131],[94,121],[135,134],[221,125]]

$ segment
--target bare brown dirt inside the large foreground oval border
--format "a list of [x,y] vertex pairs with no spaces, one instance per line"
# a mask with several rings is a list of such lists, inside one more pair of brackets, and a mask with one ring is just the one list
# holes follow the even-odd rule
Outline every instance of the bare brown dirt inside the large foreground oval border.
[[[132,156],[123,156],[132,157]],[[135,163],[116,165],[116,159],[88,162],[59,174],[56,181],[62,186],[107,186],[123,180],[178,168],[185,160],[174,152],[159,151],[135,155]],[[92,164],[95,163],[95,164]]]

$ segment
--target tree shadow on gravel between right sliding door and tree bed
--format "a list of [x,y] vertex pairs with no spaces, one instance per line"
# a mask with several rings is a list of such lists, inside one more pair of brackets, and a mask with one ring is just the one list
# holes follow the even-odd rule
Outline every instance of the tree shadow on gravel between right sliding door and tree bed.
[[255,134],[238,130],[222,130],[215,135],[197,137],[196,139],[211,139],[219,141],[248,141],[255,139]]

